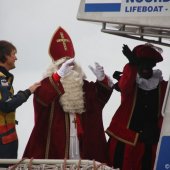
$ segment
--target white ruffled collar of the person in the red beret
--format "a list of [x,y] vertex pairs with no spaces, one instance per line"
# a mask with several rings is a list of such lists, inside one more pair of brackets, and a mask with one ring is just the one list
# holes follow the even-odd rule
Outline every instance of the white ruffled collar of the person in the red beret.
[[139,74],[137,74],[136,77],[136,83],[138,87],[143,90],[153,90],[157,88],[159,82],[162,80],[162,71],[159,69],[153,70],[153,76],[150,79],[141,78],[139,77]]

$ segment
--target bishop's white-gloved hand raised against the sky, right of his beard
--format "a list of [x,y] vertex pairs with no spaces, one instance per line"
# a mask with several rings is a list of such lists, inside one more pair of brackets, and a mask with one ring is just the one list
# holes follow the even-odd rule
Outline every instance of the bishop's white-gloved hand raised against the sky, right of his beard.
[[94,73],[97,77],[97,80],[102,81],[105,77],[104,69],[99,63],[95,63],[95,68],[89,66],[90,70]]

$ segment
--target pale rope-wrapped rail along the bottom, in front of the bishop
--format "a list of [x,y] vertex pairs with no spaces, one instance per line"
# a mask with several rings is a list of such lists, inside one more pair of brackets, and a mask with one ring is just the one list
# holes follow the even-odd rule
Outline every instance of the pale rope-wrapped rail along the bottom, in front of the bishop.
[[0,165],[8,166],[0,170],[115,170],[94,160],[0,159]]

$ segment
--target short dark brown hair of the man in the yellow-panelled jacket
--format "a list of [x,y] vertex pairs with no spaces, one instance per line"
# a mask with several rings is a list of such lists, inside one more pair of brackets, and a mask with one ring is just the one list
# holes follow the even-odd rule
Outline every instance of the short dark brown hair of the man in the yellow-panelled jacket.
[[12,43],[5,41],[5,40],[1,40],[0,41],[0,62],[5,63],[6,56],[9,56],[13,50],[17,51],[16,47]]

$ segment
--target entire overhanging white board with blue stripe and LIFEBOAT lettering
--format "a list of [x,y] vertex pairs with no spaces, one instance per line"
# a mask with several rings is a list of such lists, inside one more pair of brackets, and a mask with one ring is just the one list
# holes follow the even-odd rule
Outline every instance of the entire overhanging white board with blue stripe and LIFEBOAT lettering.
[[170,0],[81,0],[80,20],[170,28]]

